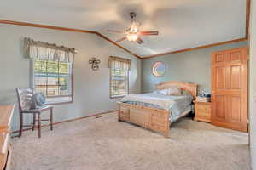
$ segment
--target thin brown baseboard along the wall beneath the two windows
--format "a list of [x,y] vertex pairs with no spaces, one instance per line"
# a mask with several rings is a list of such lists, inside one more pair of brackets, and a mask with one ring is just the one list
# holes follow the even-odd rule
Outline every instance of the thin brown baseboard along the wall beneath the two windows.
[[[118,111],[118,110],[114,110],[114,111]],[[74,119],[68,119],[68,120],[66,120],[66,121],[54,122],[53,124],[56,125],[56,124],[61,124],[61,123],[65,123],[65,122],[79,121],[79,120],[81,120],[81,119],[89,118],[89,117],[92,117],[92,116],[101,116],[101,115],[105,115],[105,114],[108,114],[108,113],[113,113],[114,111],[105,111],[105,112],[96,113],[96,114],[93,114],[93,115],[90,115],[90,116],[81,116],[81,117],[74,118]],[[45,125],[43,125],[42,127],[49,127],[49,124],[45,124]],[[37,129],[38,127],[35,127],[35,128]],[[22,132],[28,131],[28,130],[32,130],[32,127],[26,128],[26,129],[22,129]],[[12,131],[12,132],[11,132],[11,134],[15,134],[15,133],[19,133],[19,130],[15,130],[15,131]]]

